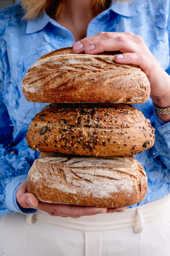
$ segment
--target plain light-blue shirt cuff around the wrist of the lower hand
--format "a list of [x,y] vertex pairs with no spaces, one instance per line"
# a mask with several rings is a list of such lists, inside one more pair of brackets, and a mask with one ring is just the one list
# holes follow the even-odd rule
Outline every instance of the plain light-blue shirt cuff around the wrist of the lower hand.
[[17,203],[16,193],[20,184],[27,179],[27,174],[14,177],[6,186],[6,205],[10,211],[21,213],[35,213],[37,210],[31,208],[23,208]]

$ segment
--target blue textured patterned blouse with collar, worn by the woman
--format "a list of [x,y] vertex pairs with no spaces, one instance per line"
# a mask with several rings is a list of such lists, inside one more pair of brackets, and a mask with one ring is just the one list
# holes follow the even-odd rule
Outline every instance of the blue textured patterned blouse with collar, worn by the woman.
[[[170,0],[135,0],[123,3],[112,0],[110,8],[89,24],[87,36],[100,31],[132,31],[143,37],[147,47],[169,72]],[[39,153],[28,148],[26,133],[32,118],[44,103],[28,102],[22,92],[22,80],[35,61],[50,51],[72,46],[71,32],[45,12],[35,20],[23,20],[18,3],[0,11],[0,216],[22,209],[16,191]],[[145,168],[149,187],[143,205],[170,192],[170,123],[154,113],[152,100],[135,105],[156,129],[152,149],[136,155]],[[136,205],[133,205],[134,207]]]

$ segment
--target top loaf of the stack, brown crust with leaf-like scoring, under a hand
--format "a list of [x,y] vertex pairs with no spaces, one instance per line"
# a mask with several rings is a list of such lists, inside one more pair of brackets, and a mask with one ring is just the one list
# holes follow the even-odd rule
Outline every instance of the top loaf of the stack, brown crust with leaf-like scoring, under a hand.
[[116,63],[113,54],[74,54],[71,47],[45,54],[26,73],[23,93],[31,102],[146,102],[146,74],[139,66]]

